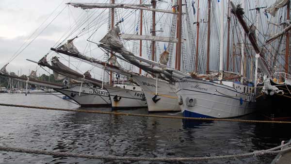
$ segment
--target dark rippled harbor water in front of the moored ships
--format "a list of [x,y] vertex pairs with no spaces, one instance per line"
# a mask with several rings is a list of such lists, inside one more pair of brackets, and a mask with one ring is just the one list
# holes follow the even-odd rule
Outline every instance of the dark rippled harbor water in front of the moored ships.
[[[62,95],[58,95],[62,96]],[[51,94],[0,94],[0,103],[80,109]],[[81,108],[110,111],[110,108]],[[118,112],[147,114],[146,109]],[[155,114],[157,115],[157,114]],[[158,115],[176,115],[160,113]],[[263,120],[259,114],[240,119]],[[291,126],[73,113],[0,106],[0,145],[87,155],[201,157],[273,148]],[[275,155],[173,164],[270,164]],[[0,151],[0,164],[161,164],[102,161]],[[162,164],[168,164],[163,162]]]

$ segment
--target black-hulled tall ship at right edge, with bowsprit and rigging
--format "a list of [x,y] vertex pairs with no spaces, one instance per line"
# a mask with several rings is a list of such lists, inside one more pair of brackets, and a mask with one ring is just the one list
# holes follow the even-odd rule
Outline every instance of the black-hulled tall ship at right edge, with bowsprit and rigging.
[[[252,26],[247,25],[248,16],[245,16],[240,5],[232,4],[232,11],[244,27],[244,32],[250,33],[248,38],[256,51],[256,101],[259,112],[267,119],[290,120],[291,112],[286,108],[291,98],[290,0],[261,1],[261,4],[267,5],[260,6],[257,1],[257,7],[252,9],[257,15]],[[265,12],[260,12],[262,10]]]

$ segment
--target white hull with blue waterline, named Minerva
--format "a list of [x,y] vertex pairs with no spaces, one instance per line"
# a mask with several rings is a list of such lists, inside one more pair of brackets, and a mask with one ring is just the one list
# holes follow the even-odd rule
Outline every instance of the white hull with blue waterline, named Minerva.
[[254,87],[235,82],[209,82],[184,78],[176,82],[183,116],[228,118],[256,109]]

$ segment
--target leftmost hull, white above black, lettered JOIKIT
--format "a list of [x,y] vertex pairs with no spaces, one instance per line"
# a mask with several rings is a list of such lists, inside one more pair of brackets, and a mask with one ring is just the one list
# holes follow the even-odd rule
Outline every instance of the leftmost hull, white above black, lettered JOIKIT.
[[111,106],[111,101],[107,90],[100,88],[90,88],[88,86],[82,86],[81,94],[79,85],[72,86],[70,88],[54,89],[57,92],[64,94],[65,96],[73,99],[81,107],[103,107]]

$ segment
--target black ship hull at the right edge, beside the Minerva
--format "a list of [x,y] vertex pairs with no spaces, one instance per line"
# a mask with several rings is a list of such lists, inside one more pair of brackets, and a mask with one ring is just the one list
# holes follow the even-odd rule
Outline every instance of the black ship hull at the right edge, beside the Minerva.
[[[271,81],[272,85],[278,85]],[[291,91],[290,85],[276,86],[283,90],[284,94],[274,94],[272,96],[259,94],[256,98],[259,112],[269,120],[291,120]]]

